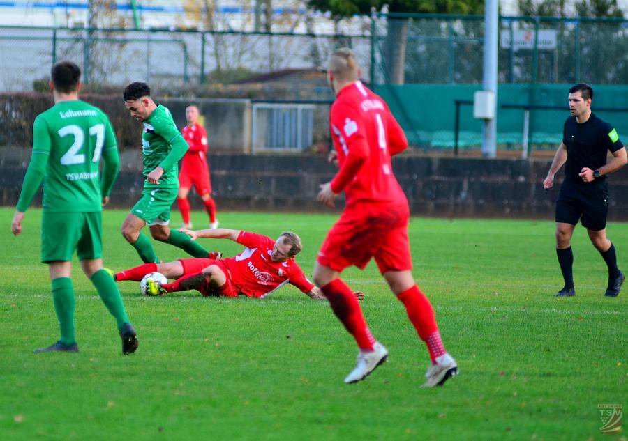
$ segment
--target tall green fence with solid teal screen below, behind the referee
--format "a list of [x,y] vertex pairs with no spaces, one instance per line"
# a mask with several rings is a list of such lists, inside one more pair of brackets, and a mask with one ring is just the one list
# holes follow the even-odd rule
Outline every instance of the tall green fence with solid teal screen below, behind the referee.
[[[427,151],[477,150],[482,122],[470,104],[482,82],[484,17],[377,15],[371,29],[375,90],[410,142]],[[501,17],[498,81],[500,150],[555,149],[577,82],[594,86],[594,111],[623,110],[600,116],[628,134],[628,20]]]

